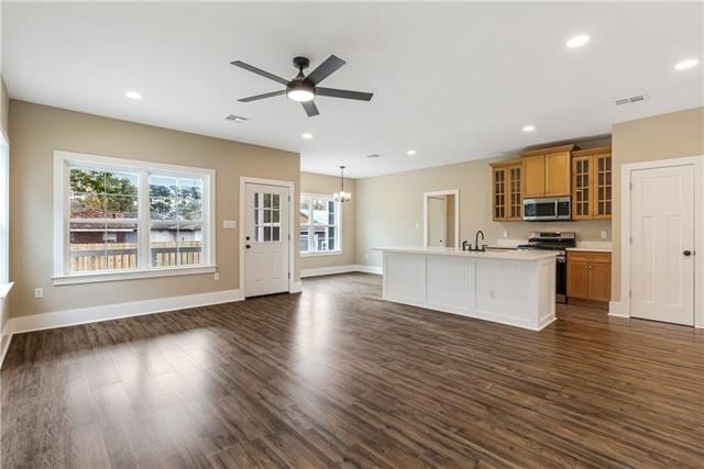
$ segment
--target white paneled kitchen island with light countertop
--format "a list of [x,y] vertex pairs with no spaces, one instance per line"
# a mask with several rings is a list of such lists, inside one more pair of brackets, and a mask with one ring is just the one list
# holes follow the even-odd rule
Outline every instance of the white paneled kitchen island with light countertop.
[[380,247],[383,298],[540,331],[556,320],[554,252]]

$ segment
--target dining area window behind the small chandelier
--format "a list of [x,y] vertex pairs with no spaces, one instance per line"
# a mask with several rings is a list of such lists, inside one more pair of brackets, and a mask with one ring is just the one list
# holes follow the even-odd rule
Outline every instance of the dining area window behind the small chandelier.
[[340,202],[330,196],[300,196],[300,254],[340,253]]

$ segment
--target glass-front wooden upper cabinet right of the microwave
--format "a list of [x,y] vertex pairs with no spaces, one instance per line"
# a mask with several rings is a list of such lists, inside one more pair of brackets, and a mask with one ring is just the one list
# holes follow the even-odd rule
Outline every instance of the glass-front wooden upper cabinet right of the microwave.
[[572,153],[572,219],[612,217],[612,148]]

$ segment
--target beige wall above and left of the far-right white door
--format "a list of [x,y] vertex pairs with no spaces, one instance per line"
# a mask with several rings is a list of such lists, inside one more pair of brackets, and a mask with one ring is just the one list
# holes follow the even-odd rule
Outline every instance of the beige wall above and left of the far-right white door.
[[612,300],[620,301],[620,166],[627,163],[704,155],[704,108],[690,109],[613,126],[614,253]]

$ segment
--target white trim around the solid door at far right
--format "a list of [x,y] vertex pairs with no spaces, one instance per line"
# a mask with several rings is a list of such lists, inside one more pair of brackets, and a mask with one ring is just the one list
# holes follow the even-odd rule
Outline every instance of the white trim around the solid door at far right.
[[[609,315],[630,317],[630,183],[632,171],[694,166],[694,213],[704,206],[704,155],[622,165],[620,169],[620,302],[609,304]],[[694,217],[694,327],[704,327],[704,216]],[[620,304],[620,305],[617,305]],[[613,312],[612,312],[613,308]]]

